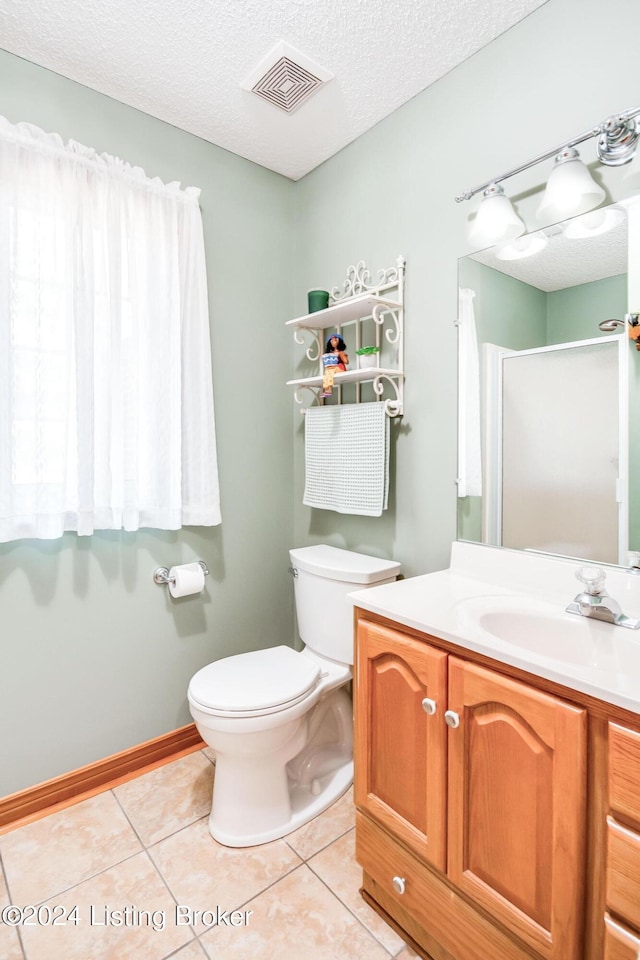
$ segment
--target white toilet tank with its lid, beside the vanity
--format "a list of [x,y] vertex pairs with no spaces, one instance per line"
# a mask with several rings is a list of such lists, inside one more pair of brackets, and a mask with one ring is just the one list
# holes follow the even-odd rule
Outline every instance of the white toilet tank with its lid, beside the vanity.
[[294,572],[298,633],[323,657],[353,663],[354,590],[391,583],[400,564],[327,544],[289,551]]

